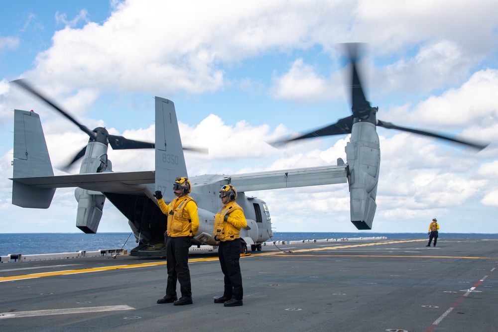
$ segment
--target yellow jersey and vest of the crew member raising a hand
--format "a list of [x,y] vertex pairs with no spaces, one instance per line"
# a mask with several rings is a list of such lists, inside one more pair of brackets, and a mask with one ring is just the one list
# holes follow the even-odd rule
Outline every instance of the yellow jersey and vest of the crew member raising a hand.
[[157,203],[163,214],[168,215],[166,232],[168,236],[194,236],[199,229],[199,216],[197,204],[192,197],[185,195],[177,197],[168,205],[164,200],[158,199]]

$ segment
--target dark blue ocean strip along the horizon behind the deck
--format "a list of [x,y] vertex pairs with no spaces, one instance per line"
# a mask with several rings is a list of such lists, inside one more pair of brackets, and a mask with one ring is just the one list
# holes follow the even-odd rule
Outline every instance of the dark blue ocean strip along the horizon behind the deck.
[[[385,236],[388,239],[428,238],[426,233],[374,233],[374,232],[273,232],[273,241],[296,241],[325,238]],[[440,233],[439,238],[498,239],[498,234]],[[268,241],[271,241],[268,240]],[[136,246],[131,233],[0,233],[0,256],[8,254],[45,254],[95,251],[101,249],[125,249]]]

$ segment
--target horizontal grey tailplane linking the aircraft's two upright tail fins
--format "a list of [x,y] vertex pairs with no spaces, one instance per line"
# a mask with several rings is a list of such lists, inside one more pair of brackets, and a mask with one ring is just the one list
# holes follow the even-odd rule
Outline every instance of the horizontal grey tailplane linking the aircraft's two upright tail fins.
[[12,178],[14,182],[34,188],[80,187],[106,193],[129,193],[140,191],[139,185],[153,184],[154,171],[103,172],[59,176],[35,176]]

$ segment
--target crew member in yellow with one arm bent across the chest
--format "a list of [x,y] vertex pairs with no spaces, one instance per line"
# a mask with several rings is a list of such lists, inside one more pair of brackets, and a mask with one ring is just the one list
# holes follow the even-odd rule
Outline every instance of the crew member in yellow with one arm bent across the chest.
[[237,192],[231,185],[221,188],[220,198],[223,206],[215,216],[215,240],[220,241],[218,257],[225,282],[223,296],[215,298],[215,303],[225,307],[242,306],[244,291],[239,259],[241,258],[241,228],[247,227],[244,210],[235,203]]

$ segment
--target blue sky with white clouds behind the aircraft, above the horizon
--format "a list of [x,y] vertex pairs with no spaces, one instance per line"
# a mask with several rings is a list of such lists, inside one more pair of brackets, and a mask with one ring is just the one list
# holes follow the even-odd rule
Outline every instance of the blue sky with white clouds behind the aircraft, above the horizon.
[[[0,1],[0,232],[79,232],[74,189],[46,210],[11,205],[14,109],[40,114],[56,175],[88,141],[9,84],[26,78],[89,128],[154,138],[154,97],[175,103],[189,176],[346,161],[348,135],[267,142],[351,114],[342,43],[377,118],[490,142],[476,152],[377,128],[369,232],[498,233],[498,2],[494,0]],[[109,150],[114,171],[154,169],[152,150]],[[78,173],[75,165],[69,173]],[[248,192],[274,231],[355,232],[347,184]],[[107,202],[99,232],[129,232]]]

